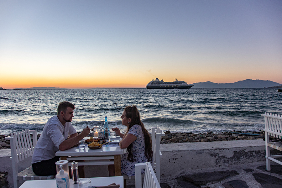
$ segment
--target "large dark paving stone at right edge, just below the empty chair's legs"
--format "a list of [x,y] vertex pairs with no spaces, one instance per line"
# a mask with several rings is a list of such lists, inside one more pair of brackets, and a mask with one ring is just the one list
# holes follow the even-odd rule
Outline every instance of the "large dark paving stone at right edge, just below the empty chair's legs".
[[253,173],[253,177],[264,188],[268,188],[268,187],[274,188],[277,187],[276,185],[279,185],[280,188],[282,187],[281,186],[282,180],[272,175],[268,175],[264,173]]

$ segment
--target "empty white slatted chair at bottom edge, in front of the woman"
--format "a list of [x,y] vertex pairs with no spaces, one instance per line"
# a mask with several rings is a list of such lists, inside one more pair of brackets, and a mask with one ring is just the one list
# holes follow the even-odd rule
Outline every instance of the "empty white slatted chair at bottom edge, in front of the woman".
[[135,188],[142,188],[142,169],[145,169],[143,188],[160,188],[154,170],[148,162],[135,164]]

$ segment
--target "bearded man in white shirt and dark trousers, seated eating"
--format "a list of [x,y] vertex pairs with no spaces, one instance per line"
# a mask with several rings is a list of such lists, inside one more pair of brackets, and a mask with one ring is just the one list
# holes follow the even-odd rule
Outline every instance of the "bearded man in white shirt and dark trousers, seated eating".
[[45,124],[32,156],[34,174],[56,175],[55,162],[60,160],[60,157],[56,157],[55,153],[71,148],[90,133],[90,128],[87,127],[81,134],[77,134],[70,123],[74,109],[70,102],[60,102],[57,115]]

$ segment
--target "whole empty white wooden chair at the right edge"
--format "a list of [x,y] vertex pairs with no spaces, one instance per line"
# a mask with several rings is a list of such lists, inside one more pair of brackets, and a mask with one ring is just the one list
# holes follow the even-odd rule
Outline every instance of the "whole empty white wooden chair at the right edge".
[[274,136],[276,138],[282,138],[282,116],[279,114],[264,113],[264,132],[265,132],[265,158],[266,158],[266,170],[270,170],[270,160],[282,165],[282,162],[274,159],[282,157],[282,155],[270,155],[270,148],[282,151],[281,142],[270,142],[269,136]]

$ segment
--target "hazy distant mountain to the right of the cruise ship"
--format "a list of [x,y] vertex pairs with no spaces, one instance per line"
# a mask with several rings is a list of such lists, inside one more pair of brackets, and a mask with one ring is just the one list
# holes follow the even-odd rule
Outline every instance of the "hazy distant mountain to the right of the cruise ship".
[[279,86],[281,84],[269,80],[265,81],[265,80],[247,79],[243,81],[238,81],[234,83],[225,83],[225,84],[218,84],[218,83],[206,81],[206,82],[198,82],[189,85],[194,85],[192,88],[264,88],[264,87]]

